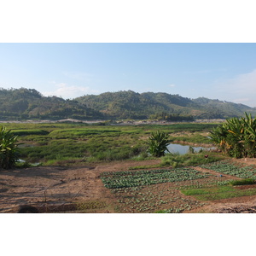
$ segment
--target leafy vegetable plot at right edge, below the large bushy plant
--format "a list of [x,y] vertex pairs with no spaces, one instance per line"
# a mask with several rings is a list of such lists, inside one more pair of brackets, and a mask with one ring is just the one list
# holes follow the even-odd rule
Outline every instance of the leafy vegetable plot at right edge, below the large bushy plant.
[[256,179],[255,166],[234,166],[228,160],[219,161],[216,163],[203,165],[202,168],[209,169],[215,172],[220,172],[227,175],[232,175],[241,178],[252,177]]

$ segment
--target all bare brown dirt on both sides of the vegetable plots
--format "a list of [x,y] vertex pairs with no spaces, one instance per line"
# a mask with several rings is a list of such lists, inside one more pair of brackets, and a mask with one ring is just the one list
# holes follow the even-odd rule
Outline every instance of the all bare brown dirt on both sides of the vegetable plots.
[[[234,161],[256,164],[256,159]],[[131,166],[158,163],[160,160],[119,161],[94,167],[41,166],[1,171],[0,212],[18,212],[23,205],[37,207],[39,212],[116,212],[114,196],[103,186],[101,172],[127,171]],[[197,170],[209,172],[199,167]],[[256,212],[256,195],[210,201],[186,212]]]

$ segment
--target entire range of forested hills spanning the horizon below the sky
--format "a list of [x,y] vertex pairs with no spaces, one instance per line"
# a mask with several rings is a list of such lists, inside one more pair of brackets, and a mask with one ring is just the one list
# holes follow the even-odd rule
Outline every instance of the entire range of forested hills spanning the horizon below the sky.
[[167,93],[106,92],[64,100],[34,89],[0,89],[0,120],[13,119],[226,119],[256,108]]

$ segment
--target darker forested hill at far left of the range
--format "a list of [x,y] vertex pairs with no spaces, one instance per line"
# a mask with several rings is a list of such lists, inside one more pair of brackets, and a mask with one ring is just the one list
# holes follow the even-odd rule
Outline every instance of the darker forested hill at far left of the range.
[[5,119],[102,119],[102,113],[79,102],[43,96],[34,89],[0,89],[0,120]]

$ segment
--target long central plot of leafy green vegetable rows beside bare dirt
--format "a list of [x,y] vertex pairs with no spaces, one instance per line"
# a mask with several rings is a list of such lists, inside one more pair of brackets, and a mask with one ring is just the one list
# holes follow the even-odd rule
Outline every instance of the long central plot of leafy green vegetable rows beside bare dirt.
[[172,183],[209,177],[192,168],[137,172],[102,172],[102,183],[108,189],[131,188],[158,183]]

